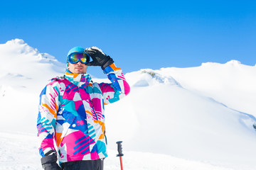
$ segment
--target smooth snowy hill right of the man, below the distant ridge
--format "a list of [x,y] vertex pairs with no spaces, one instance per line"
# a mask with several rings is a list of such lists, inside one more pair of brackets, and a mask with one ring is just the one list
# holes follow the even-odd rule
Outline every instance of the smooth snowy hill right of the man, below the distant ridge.
[[[123,134],[131,150],[171,154],[239,169],[248,164],[256,167],[252,115],[184,89],[171,77],[158,77],[151,70],[140,72],[139,77],[136,76],[139,72],[126,75],[128,80],[132,79],[130,84],[134,84],[132,93],[107,107],[111,113],[107,123],[120,127],[115,130],[116,127],[110,126],[109,138]],[[154,77],[150,79],[151,75]],[[126,117],[116,111],[119,108],[123,108]],[[114,118],[120,121],[117,123]]]

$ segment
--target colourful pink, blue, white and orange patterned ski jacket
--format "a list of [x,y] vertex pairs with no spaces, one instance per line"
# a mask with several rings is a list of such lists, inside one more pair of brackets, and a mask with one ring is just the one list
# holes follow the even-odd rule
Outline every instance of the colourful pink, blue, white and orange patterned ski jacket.
[[42,157],[55,151],[54,140],[60,163],[107,157],[104,105],[129,94],[129,84],[114,64],[103,71],[112,84],[92,83],[89,74],[67,70],[43,89],[37,123]]

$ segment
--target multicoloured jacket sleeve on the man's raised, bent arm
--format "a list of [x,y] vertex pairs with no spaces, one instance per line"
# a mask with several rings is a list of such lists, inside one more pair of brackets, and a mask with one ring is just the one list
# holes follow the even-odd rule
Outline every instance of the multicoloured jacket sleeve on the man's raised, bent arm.
[[119,101],[119,99],[129,94],[130,87],[126,79],[124,78],[122,69],[117,68],[113,63],[110,66],[106,67],[103,72],[107,74],[108,79],[110,79],[110,81],[112,82],[112,84],[100,84],[100,89],[102,91],[105,104]]

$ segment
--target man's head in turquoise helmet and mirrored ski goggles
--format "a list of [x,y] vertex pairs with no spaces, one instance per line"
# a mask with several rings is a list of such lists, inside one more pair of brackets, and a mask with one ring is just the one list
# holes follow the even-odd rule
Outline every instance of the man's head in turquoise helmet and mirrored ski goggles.
[[87,64],[90,62],[90,57],[82,47],[73,47],[68,52],[67,67],[74,74],[83,74],[87,72]]

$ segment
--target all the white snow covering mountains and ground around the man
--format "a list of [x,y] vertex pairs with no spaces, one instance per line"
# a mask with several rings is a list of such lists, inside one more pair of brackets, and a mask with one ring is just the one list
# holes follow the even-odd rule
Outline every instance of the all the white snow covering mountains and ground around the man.
[[[1,44],[0,59],[0,169],[42,169],[38,96],[49,79],[63,75],[65,64],[20,39]],[[105,169],[120,169],[119,140],[127,170],[256,168],[255,66],[207,62],[125,77],[131,93],[106,106]]]

